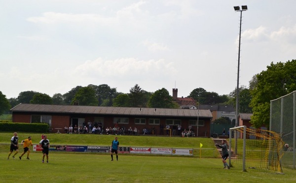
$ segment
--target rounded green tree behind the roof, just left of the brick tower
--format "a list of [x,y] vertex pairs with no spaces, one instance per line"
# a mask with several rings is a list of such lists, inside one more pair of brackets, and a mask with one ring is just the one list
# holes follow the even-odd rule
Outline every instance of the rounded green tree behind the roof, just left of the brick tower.
[[148,107],[152,108],[176,108],[173,97],[165,88],[155,91],[149,101]]

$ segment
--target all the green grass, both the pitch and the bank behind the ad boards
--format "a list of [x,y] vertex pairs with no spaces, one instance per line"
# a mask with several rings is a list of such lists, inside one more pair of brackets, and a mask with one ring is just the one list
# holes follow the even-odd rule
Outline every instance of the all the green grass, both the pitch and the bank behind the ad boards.
[[[29,135],[34,144],[39,142],[40,134],[18,134],[20,140]],[[12,133],[0,133],[0,179],[3,183],[292,183],[296,180],[296,172],[291,169],[284,169],[284,175],[253,170],[242,172],[241,167],[222,169],[221,158],[219,155],[213,157],[216,156],[213,150],[203,152],[201,158],[197,153],[199,150],[193,157],[119,154],[118,161],[111,161],[107,153],[49,152],[48,164],[41,163],[41,152],[31,151],[30,160],[20,160],[20,151],[16,159],[10,156],[7,160],[9,144],[6,143],[11,137]],[[48,134],[51,144],[110,146],[113,138],[111,135]],[[215,147],[209,138],[118,136],[118,140],[121,146],[198,149],[199,143],[203,143],[205,149]]]

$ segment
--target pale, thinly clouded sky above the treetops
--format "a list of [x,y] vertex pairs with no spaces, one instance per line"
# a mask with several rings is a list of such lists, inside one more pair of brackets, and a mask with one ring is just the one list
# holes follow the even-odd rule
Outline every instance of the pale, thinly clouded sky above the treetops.
[[229,94],[296,59],[295,0],[0,0],[0,91]]

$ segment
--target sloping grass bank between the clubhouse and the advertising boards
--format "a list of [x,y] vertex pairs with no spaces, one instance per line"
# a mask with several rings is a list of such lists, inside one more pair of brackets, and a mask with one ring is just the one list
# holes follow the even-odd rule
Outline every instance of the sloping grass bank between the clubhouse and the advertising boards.
[[[9,143],[13,133],[0,133],[0,143]],[[34,144],[38,144],[41,140],[41,134],[37,133],[18,133],[21,140],[32,136]],[[114,135],[98,135],[98,134],[56,134],[49,133],[47,138],[51,144],[56,145],[100,145],[111,146]],[[220,157],[216,150],[214,142],[211,138],[192,138],[192,137],[168,137],[168,136],[117,136],[120,146],[136,146],[136,147],[162,147],[162,148],[193,148],[194,156],[202,157]],[[203,145],[200,148],[200,143]],[[2,149],[2,148],[1,148]]]

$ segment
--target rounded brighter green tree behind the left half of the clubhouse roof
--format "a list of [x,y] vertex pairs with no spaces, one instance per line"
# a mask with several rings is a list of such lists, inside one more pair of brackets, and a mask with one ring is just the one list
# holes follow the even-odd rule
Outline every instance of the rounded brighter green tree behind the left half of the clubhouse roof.
[[72,104],[76,101],[79,102],[79,105],[98,106],[95,91],[91,87],[80,88],[72,99]]

